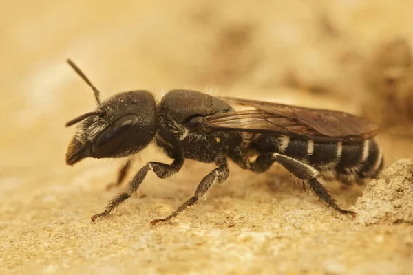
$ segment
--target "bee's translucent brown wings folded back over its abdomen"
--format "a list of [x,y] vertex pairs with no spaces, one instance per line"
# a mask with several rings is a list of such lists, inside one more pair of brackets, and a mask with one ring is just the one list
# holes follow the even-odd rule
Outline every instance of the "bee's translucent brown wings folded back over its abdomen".
[[221,113],[207,117],[207,129],[253,133],[298,135],[313,140],[368,140],[377,134],[378,126],[365,118],[324,109],[286,104],[222,98],[231,104],[256,110]]

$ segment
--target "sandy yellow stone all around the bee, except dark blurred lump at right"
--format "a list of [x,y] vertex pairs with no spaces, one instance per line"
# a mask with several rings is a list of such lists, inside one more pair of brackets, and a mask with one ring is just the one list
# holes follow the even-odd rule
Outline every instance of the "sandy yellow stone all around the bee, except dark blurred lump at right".
[[[167,180],[149,173],[134,197],[93,224],[119,192],[105,185],[121,163],[66,166],[74,129],[64,124],[95,107],[66,58],[104,98],[192,88],[358,113],[368,56],[413,37],[412,3],[4,1],[0,274],[411,274],[411,135],[382,129],[390,168],[358,201],[365,186],[327,183],[343,207],[355,205],[354,219],[321,205],[279,166],[253,175],[230,163],[228,183],[153,228],[214,166],[186,162]],[[150,147],[129,177],[148,161],[170,159]]]

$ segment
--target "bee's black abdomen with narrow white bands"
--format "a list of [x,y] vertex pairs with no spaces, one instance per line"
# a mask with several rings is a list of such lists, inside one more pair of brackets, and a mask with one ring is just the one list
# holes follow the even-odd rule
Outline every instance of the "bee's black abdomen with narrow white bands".
[[262,152],[293,157],[319,170],[322,177],[337,178],[346,184],[377,177],[383,167],[383,154],[374,140],[364,142],[316,142],[292,137],[266,135],[255,140]]

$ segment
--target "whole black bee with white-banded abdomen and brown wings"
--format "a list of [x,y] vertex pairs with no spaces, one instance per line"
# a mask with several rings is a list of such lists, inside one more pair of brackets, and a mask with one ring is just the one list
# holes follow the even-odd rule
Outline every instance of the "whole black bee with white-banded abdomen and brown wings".
[[[80,115],[66,126],[78,124],[67,149],[66,162],[74,165],[92,157],[130,157],[151,142],[163,149],[171,163],[148,162],[123,192],[94,214],[92,221],[107,216],[128,199],[151,170],[161,179],[180,171],[184,159],[215,163],[193,197],[155,225],[176,217],[195,204],[213,184],[229,177],[227,159],[244,170],[265,173],[277,162],[292,173],[319,200],[343,214],[320,179],[338,179],[344,184],[376,178],[383,167],[383,152],[373,139],[378,126],[369,120],[325,109],[311,109],[258,100],[214,97],[191,90],[171,90],[159,102],[149,91],[116,94],[105,102],[100,92],[72,61],[67,61],[92,87],[95,111]],[[235,111],[231,105],[251,107]],[[251,159],[255,156],[255,159]],[[120,170],[118,184],[129,169],[130,159]]]

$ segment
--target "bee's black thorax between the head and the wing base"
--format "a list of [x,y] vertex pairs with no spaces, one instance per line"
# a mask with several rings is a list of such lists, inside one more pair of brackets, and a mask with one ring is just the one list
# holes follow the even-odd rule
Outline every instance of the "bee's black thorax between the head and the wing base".
[[[169,91],[158,105],[158,146],[198,162],[215,162],[240,146],[240,133],[192,131],[187,124],[200,116],[225,113],[233,109],[218,98],[198,91]],[[166,144],[166,146],[165,146]]]

